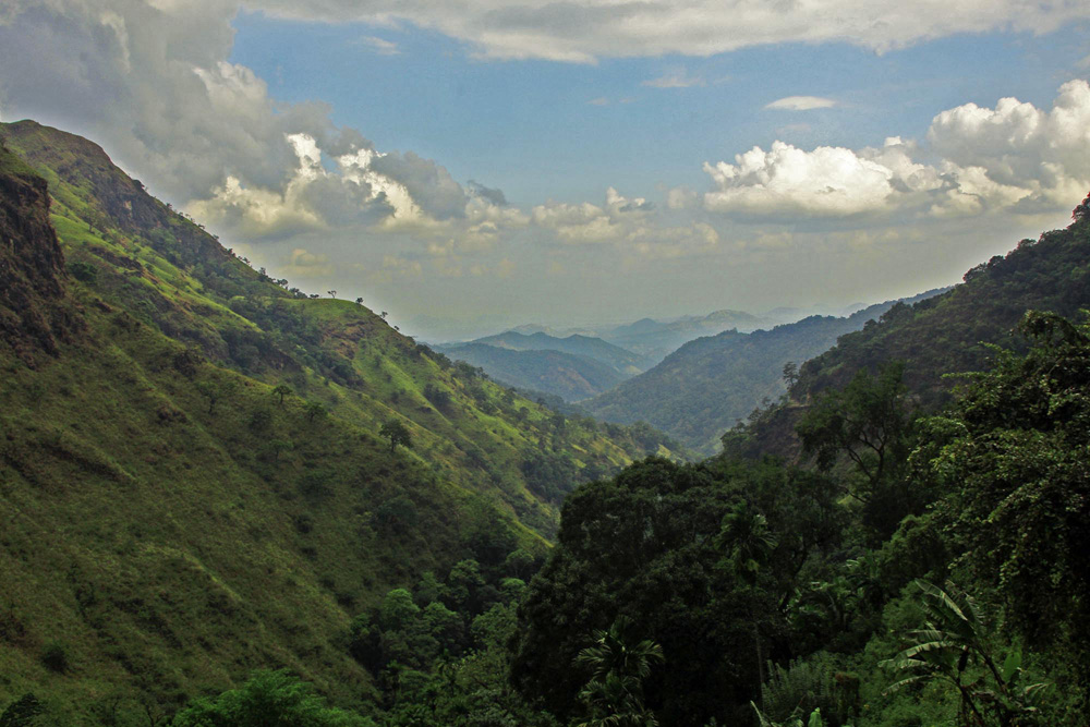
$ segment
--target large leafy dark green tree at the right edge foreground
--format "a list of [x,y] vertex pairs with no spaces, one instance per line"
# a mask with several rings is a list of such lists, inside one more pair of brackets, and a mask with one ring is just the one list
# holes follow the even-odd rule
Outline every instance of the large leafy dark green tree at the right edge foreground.
[[955,553],[1030,643],[1070,650],[1090,679],[1090,325],[1030,312],[1025,354],[995,349],[945,416],[925,472]]

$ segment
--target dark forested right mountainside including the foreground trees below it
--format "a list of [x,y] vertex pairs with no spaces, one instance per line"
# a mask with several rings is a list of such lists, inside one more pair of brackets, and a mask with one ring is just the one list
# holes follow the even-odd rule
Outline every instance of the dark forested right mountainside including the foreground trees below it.
[[[844,337],[806,405],[732,433],[749,449],[576,490],[519,611],[522,693],[572,724],[1086,724],[1090,322],[1010,306],[1086,307],[1088,262],[1090,197]],[[979,372],[953,398],[942,347]],[[770,457],[774,432],[802,456]]]

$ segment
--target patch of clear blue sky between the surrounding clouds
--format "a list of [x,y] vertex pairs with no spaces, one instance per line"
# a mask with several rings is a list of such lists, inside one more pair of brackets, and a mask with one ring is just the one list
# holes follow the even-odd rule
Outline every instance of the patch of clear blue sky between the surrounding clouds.
[[[578,202],[606,186],[651,196],[703,182],[700,165],[779,138],[881,145],[919,136],[937,110],[1003,96],[1046,106],[1090,48],[1086,27],[1045,37],[962,34],[883,54],[846,44],[783,44],[711,58],[481,61],[464,43],[412,25],[316,23],[242,12],[231,60],[286,101],[322,100],[379,148],[413,149],[456,179],[517,204]],[[365,38],[397,47],[376,52]],[[703,85],[654,88],[671,74]],[[834,98],[807,113],[765,110],[787,96]],[[592,104],[606,99],[608,105]]]

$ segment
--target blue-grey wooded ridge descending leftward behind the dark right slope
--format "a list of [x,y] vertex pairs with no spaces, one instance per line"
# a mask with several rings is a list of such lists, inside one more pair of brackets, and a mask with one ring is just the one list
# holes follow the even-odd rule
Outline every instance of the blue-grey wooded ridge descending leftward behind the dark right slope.
[[[922,300],[940,291],[909,299]],[[782,372],[828,349],[895,305],[871,305],[846,318],[811,316],[771,330],[724,331],[682,346],[654,368],[583,402],[610,422],[645,421],[682,444],[713,452],[722,434],[785,390]]]

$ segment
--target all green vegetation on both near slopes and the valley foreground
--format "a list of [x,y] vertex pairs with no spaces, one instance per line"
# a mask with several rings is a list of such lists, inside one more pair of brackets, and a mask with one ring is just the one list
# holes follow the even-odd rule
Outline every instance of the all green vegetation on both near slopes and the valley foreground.
[[2,129],[0,726],[1086,724],[1090,199],[683,463]]

